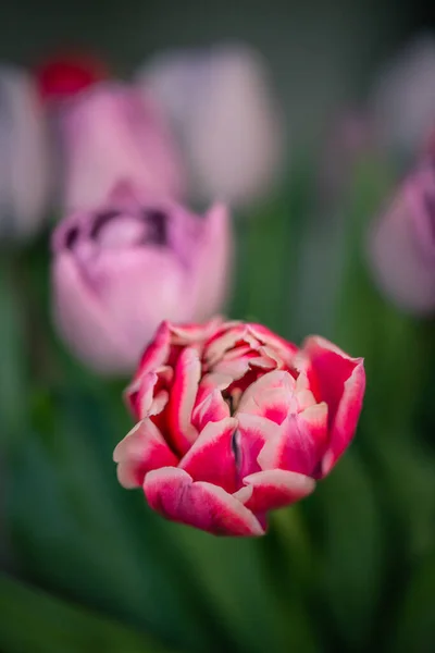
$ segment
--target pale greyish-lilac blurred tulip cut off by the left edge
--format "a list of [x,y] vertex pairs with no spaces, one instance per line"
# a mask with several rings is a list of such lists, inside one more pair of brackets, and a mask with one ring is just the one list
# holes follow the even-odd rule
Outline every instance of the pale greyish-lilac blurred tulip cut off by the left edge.
[[0,238],[27,237],[49,201],[49,139],[30,77],[0,66]]

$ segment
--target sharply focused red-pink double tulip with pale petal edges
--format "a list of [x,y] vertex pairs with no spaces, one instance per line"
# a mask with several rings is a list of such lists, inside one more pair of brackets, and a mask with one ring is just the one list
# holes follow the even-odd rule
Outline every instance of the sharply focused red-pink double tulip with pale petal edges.
[[261,324],[163,322],[126,391],[139,421],[117,478],[169,519],[261,535],[349,445],[364,385],[362,359],[318,336],[298,349]]

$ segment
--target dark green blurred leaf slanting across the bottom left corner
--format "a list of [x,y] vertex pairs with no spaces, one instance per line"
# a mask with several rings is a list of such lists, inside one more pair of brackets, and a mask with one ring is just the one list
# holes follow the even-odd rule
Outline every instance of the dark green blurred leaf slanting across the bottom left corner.
[[0,575],[4,653],[164,653],[150,637]]

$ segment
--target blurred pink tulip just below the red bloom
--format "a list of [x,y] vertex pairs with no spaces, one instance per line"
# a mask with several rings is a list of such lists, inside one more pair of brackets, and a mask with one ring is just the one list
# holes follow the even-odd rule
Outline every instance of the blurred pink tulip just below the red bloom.
[[151,99],[119,83],[101,83],[61,111],[64,205],[97,208],[120,182],[151,195],[178,197],[182,169],[175,145]]

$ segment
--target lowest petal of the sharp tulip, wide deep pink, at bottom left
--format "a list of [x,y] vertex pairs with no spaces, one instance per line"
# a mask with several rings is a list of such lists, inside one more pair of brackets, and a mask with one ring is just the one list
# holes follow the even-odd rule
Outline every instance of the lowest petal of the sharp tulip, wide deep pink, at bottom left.
[[165,467],[150,471],[144,492],[151,508],[182,523],[216,535],[262,535],[258,519],[222,488],[194,483],[183,469]]

